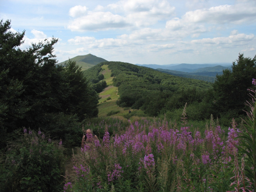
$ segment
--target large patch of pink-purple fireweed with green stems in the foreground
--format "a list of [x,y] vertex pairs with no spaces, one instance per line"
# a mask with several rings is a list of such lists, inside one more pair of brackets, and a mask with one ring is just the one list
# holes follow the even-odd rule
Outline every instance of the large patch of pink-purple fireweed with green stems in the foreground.
[[[184,109],[182,124],[186,124],[185,114]],[[238,185],[244,185],[244,189],[252,187],[244,174],[247,161],[237,153],[241,140],[235,121],[228,133],[213,118],[210,127],[202,131],[184,125],[178,128],[177,123],[165,120],[144,120],[131,123],[126,129],[120,127],[111,137],[110,127],[105,125],[100,142],[86,144],[74,157],[76,175],[65,181],[66,186],[72,186],[67,192],[125,191],[125,188],[225,192],[236,191]],[[237,179],[249,182],[239,184]]]

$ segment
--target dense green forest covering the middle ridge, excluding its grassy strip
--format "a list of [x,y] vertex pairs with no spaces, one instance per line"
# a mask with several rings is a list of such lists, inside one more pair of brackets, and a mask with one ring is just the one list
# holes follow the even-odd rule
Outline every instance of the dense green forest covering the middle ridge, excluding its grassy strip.
[[108,65],[112,71],[113,85],[119,90],[119,106],[142,109],[149,116],[179,109],[186,102],[201,102],[206,90],[211,88],[209,82],[172,76],[123,62],[103,62],[86,70],[84,73],[88,80],[95,82],[102,65]]

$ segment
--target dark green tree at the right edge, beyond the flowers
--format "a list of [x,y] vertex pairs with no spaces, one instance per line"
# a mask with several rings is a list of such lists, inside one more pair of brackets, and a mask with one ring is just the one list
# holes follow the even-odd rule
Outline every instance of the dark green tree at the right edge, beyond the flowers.
[[236,62],[233,62],[232,70],[223,70],[223,75],[217,75],[213,83],[215,116],[232,118],[244,114],[244,102],[249,98],[247,89],[255,77],[256,56],[250,58],[239,54]]

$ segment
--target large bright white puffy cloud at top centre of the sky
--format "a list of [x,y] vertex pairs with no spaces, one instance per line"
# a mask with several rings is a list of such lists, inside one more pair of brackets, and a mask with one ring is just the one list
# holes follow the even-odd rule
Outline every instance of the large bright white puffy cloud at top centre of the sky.
[[106,7],[97,6],[93,11],[75,6],[69,11],[74,19],[68,28],[71,31],[100,31],[150,26],[170,18],[174,10],[175,7],[171,7],[166,0],[121,0]]

